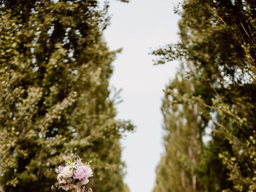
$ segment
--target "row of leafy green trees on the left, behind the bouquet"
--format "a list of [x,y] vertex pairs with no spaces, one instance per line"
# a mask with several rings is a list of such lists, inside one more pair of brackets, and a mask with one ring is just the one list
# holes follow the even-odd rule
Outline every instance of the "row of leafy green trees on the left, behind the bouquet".
[[109,97],[107,11],[97,0],[0,0],[1,192],[49,192],[72,153],[92,160],[95,191],[129,191],[120,137],[134,126]]

